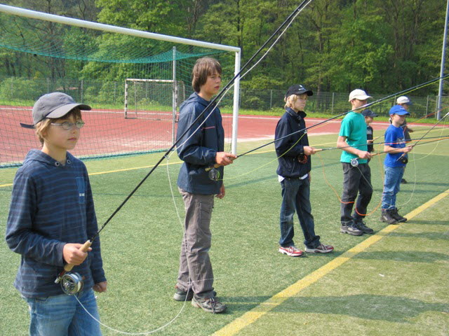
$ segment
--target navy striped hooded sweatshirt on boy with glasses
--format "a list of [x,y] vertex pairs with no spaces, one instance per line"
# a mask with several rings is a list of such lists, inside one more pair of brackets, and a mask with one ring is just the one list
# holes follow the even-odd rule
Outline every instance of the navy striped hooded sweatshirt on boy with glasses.
[[[20,253],[14,286],[25,297],[62,294],[55,279],[65,262],[66,243],[84,244],[98,230],[86,166],[67,153],[66,164],[38,150],[29,151],[15,174],[6,243]],[[88,258],[73,267],[84,277],[84,288],[106,281],[100,239]]]

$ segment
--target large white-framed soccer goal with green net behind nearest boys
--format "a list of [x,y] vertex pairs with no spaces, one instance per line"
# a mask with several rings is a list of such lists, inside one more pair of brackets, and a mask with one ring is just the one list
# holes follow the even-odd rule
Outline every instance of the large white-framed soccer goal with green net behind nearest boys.
[[[193,92],[196,59],[217,58],[225,83],[234,74],[235,47],[95,22],[76,26],[81,20],[11,8],[0,5],[0,168],[21,165],[30,149],[41,148],[34,131],[20,123],[32,124],[32,106],[43,94],[65,92],[92,106],[82,113],[86,125],[72,154],[135,155],[173,146],[178,106]],[[230,90],[222,111],[235,110],[233,96]],[[230,149],[232,118],[224,121]]]

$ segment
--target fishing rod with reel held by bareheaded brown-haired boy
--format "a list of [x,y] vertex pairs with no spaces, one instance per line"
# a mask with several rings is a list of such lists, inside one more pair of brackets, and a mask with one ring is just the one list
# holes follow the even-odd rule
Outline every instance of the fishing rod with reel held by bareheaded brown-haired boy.
[[[434,82],[436,82],[436,81],[438,81],[438,80],[440,80],[440,79],[445,79],[445,78],[448,78],[448,77],[449,77],[449,74],[448,74],[448,75],[445,75],[445,76],[443,76],[443,77],[438,77],[438,78],[431,79],[431,80],[429,80],[429,81],[427,81],[427,82],[425,82],[425,83],[421,83],[421,84],[415,85],[415,86],[413,86],[413,87],[409,87],[409,88],[406,89],[406,90],[402,90],[402,91],[399,91],[399,92],[395,92],[394,94],[390,94],[390,95],[387,96],[387,97],[383,97],[383,98],[377,99],[375,102],[370,102],[370,103],[365,104],[365,105],[363,105],[363,106],[360,106],[360,107],[358,107],[358,108],[356,108],[356,109],[354,109],[354,110],[349,110],[349,111],[346,111],[346,112],[344,112],[344,113],[340,113],[339,115],[334,116],[334,117],[332,117],[332,118],[328,118],[328,119],[326,119],[326,120],[323,120],[321,123],[318,123],[318,124],[315,124],[315,125],[311,125],[311,126],[309,126],[309,127],[305,127],[305,128],[302,129],[302,130],[298,130],[298,131],[295,131],[295,132],[293,132],[293,133],[287,134],[287,135],[284,136],[284,137],[281,137],[281,138],[279,138],[279,139],[275,139],[274,141],[270,141],[270,142],[267,143],[267,144],[263,144],[262,146],[258,146],[257,148],[254,148],[254,149],[252,149],[252,150],[250,150],[250,151],[247,151],[247,152],[245,152],[245,153],[243,153],[243,154],[237,155],[237,157],[236,157],[235,159],[229,158],[229,160],[234,161],[234,160],[236,160],[236,159],[238,159],[238,158],[241,158],[243,155],[247,155],[247,154],[249,154],[249,153],[252,153],[253,151],[257,151],[257,149],[263,148],[263,147],[265,147],[265,146],[269,146],[269,145],[271,145],[271,144],[274,144],[276,141],[279,141],[279,140],[282,140],[282,139],[286,139],[287,137],[291,137],[293,134],[297,134],[297,133],[300,133],[300,132],[305,132],[305,131],[307,131],[307,130],[313,128],[313,127],[317,127],[317,126],[319,126],[319,125],[322,125],[323,123],[328,123],[330,120],[334,120],[334,119],[340,118],[341,116],[344,116],[344,115],[346,115],[347,113],[349,113],[349,112],[351,112],[351,111],[358,111],[358,110],[367,109],[367,108],[370,107],[370,106],[373,106],[373,105],[375,105],[375,104],[380,104],[381,102],[384,102],[385,100],[390,99],[390,98],[392,98],[392,97],[396,97],[396,96],[401,95],[401,94],[406,94],[406,93],[408,93],[408,92],[412,92],[412,91],[417,90],[417,89],[419,89],[419,88],[421,88],[421,87],[424,87],[424,86],[426,86],[426,85],[430,85],[431,83],[434,83]],[[220,164],[215,163],[214,165],[205,168],[206,172],[209,172],[209,178],[210,178],[210,179],[215,180],[215,181],[216,181],[217,179],[220,179],[220,172],[217,170],[217,168],[220,167],[220,166],[221,166]]]

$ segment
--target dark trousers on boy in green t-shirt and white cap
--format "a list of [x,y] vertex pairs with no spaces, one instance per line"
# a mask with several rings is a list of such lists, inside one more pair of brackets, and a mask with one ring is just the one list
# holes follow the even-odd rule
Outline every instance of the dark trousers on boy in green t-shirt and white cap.
[[[357,167],[352,167],[347,162],[342,162],[342,165],[343,194],[341,221],[342,225],[351,225],[353,221],[360,221],[366,216],[366,209],[373,195],[371,169],[368,163],[361,163]],[[354,209],[354,214],[351,216],[356,198],[356,209]]]

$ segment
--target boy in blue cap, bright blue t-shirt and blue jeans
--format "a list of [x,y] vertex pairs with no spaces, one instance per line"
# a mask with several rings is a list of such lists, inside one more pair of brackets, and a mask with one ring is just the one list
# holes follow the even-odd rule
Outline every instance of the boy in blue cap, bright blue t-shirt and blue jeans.
[[401,179],[408,161],[407,154],[412,146],[406,147],[403,123],[410,116],[403,106],[395,105],[390,109],[391,125],[385,131],[384,152],[384,192],[382,194],[382,215],[380,220],[389,224],[403,223],[407,218],[398,214],[396,195],[400,190]]

